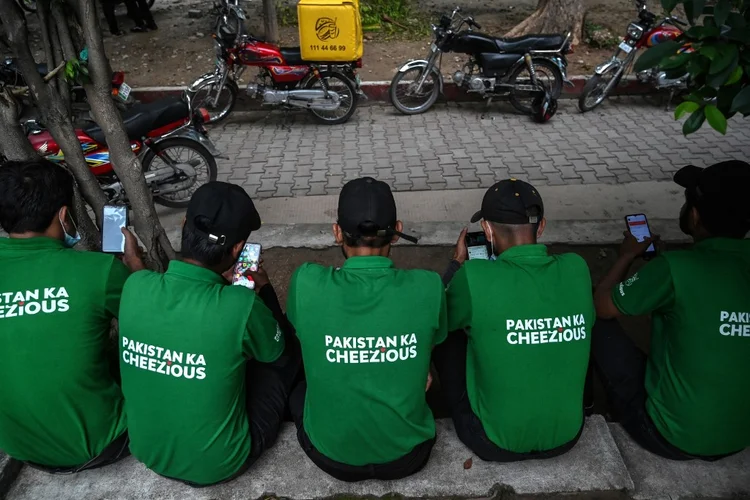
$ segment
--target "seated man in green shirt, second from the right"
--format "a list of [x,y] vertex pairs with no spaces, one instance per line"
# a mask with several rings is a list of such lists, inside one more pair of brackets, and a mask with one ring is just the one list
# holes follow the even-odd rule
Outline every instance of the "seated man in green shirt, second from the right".
[[[571,449],[583,429],[594,304],[576,254],[538,244],[546,222],[530,184],[492,186],[472,222],[497,258],[469,260],[461,233],[448,286],[448,340],[434,361],[459,439],[509,462]],[[457,262],[456,262],[457,261]],[[465,333],[464,333],[465,332]]]

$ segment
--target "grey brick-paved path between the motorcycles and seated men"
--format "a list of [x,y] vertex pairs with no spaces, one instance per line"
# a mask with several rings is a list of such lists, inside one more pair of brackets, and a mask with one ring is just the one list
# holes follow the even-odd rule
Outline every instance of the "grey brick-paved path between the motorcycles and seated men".
[[397,191],[488,187],[507,177],[537,185],[664,180],[685,164],[750,158],[750,120],[733,119],[726,136],[705,126],[689,138],[672,112],[643,98],[616,98],[581,114],[561,101],[548,124],[514,114],[506,103],[484,116],[475,104],[440,104],[417,116],[365,106],[349,123],[322,126],[305,112],[236,114],[211,137],[229,159],[219,180],[257,198],[337,194],[370,175]]

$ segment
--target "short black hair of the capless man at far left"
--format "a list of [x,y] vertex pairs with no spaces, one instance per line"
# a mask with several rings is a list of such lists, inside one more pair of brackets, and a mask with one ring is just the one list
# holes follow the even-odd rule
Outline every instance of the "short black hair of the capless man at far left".
[[62,207],[73,205],[73,176],[43,158],[0,165],[0,226],[40,233]]

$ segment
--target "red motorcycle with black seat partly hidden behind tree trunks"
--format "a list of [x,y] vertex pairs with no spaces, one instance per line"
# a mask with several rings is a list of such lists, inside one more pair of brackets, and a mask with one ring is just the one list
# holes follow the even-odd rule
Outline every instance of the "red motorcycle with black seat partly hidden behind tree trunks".
[[[174,208],[187,206],[201,185],[216,180],[216,150],[203,123],[205,109],[193,110],[188,95],[136,104],[123,113],[130,147],[138,155],[154,201]],[[65,161],[60,146],[36,120],[24,123],[29,141],[44,158]],[[76,130],[86,163],[108,203],[127,203],[125,190],[112,168],[104,132],[96,123]]]

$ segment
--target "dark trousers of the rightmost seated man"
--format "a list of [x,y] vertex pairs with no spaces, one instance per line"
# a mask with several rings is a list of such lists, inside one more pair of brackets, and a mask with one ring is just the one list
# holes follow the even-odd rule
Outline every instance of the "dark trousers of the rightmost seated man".
[[728,455],[698,457],[670,444],[646,411],[646,354],[617,320],[597,319],[591,336],[591,358],[607,393],[615,420],[641,447],[670,460],[719,460]]

